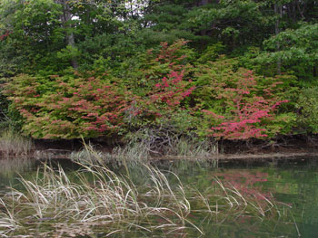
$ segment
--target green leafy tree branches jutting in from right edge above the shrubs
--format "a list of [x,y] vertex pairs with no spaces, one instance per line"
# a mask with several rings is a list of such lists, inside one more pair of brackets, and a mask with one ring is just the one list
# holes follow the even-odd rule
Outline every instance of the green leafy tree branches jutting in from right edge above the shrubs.
[[[264,41],[264,49],[255,62],[268,66],[281,61],[282,71],[296,75],[301,84],[310,85],[318,77],[318,24],[301,24]],[[280,45],[277,51],[277,44]]]

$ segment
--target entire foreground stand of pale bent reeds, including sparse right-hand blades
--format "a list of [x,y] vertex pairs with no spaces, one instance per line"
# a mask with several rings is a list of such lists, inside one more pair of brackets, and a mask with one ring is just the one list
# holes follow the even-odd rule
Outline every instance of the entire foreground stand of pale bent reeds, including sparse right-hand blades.
[[[197,191],[184,186],[173,172],[146,164],[139,164],[144,170],[143,183],[135,182],[129,172],[119,175],[104,165],[81,167],[67,176],[62,167],[54,170],[44,165],[35,179],[21,178],[25,189],[11,189],[0,201],[0,234],[35,235],[33,231],[40,230],[46,237],[92,233],[200,237],[203,222],[222,225],[244,216],[260,221],[281,217],[273,201],[244,197],[217,178],[210,189]],[[177,181],[174,185],[168,179],[171,176]],[[202,220],[191,219],[194,214]]]

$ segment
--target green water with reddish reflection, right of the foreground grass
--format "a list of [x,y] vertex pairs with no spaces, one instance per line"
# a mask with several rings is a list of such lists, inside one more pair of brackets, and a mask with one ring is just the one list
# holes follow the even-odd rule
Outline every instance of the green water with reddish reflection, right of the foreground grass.
[[[182,169],[178,170],[178,167]],[[165,168],[168,167],[165,165]],[[193,185],[200,191],[211,186],[217,176],[243,196],[255,197],[260,203],[264,199],[273,199],[286,207],[281,211],[282,217],[288,217],[283,223],[257,224],[252,217],[241,216],[214,227],[214,231],[209,228],[211,225],[206,224],[206,237],[317,237],[318,165],[313,159],[267,164],[221,163],[219,168],[177,161],[169,164],[169,168],[178,174],[184,184]]]

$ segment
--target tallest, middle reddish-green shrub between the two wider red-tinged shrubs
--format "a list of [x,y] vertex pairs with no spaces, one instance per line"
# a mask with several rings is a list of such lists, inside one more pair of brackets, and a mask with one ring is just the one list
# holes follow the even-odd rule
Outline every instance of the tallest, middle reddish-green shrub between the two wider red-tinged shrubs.
[[[192,65],[186,48],[186,41],[179,40],[171,45],[162,43],[159,50],[149,50],[135,74],[139,81],[130,87],[135,95],[134,103],[127,110],[128,131],[139,129],[157,129],[162,121],[171,122],[185,109],[184,100],[194,90],[189,79]],[[134,72],[133,72],[134,75]],[[190,117],[187,114],[186,117]]]

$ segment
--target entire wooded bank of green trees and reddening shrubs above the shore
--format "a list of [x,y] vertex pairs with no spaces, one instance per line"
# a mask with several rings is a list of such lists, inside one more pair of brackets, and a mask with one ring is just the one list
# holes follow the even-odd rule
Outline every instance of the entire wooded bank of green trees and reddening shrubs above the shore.
[[3,118],[33,138],[317,133],[317,11],[311,0],[3,0]]

